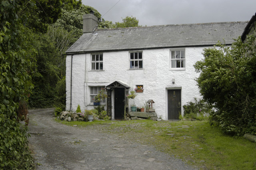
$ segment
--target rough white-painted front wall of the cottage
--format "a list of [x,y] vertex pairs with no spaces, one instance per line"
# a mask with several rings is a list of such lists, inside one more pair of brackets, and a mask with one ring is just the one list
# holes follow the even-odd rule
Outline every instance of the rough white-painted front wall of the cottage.
[[[134,100],[136,106],[144,106],[146,100],[152,99],[155,102],[153,107],[158,116],[167,119],[168,89],[182,89],[182,106],[187,102],[194,101],[194,98],[200,98],[194,80],[198,74],[193,65],[202,59],[204,48],[185,48],[186,68],[184,70],[170,68],[170,50],[177,48],[140,50],[143,58],[143,69],[141,70],[129,70],[130,51],[104,52],[104,70],[101,71],[91,70],[91,54],[76,54],[72,60],[71,110],[76,110],[78,104],[80,104],[81,110],[93,108],[90,103],[89,86],[107,86],[114,81],[121,80],[131,87],[130,90],[134,90],[136,84],[144,86],[144,92],[137,93],[134,99],[129,99],[129,104],[132,104],[132,100]],[[71,58],[71,55],[66,57],[66,110],[70,110]],[[173,78],[175,84],[172,84]]]

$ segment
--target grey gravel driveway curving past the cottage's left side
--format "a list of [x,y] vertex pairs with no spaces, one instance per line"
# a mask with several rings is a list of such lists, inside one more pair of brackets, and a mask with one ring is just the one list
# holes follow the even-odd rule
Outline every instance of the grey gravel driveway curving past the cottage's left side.
[[[179,159],[134,139],[54,121],[53,109],[29,110],[30,147],[36,170],[192,170]],[[135,140],[136,141],[136,140]]]

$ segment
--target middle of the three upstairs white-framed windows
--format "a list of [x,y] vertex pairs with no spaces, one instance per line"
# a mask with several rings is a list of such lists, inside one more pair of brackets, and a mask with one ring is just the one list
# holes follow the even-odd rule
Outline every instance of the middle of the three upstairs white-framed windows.
[[[140,53],[141,53],[141,57],[140,57]],[[133,56],[132,56],[132,54],[133,54]],[[132,67],[132,64],[133,64],[133,67]],[[141,67],[140,67],[140,65],[141,65]],[[143,54],[142,54],[142,51],[131,51],[131,52],[129,52],[129,69],[130,70],[143,69]]]

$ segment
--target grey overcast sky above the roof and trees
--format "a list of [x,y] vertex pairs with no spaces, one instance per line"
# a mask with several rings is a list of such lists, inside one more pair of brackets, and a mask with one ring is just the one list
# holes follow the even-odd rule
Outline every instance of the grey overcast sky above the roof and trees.
[[115,23],[133,16],[142,26],[248,21],[256,12],[256,0],[82,0],[82,3],[94,7],[105,20]]

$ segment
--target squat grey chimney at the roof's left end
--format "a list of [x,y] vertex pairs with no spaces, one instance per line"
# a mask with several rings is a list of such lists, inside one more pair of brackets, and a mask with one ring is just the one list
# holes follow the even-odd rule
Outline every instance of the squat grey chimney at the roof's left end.
[[85,14],[83,16],[83,33],[93,32],[94,28],[98,26],[98,18],[93,14]]

